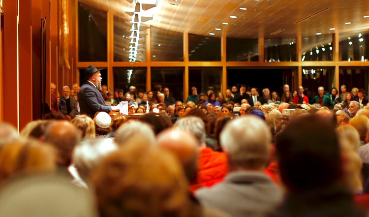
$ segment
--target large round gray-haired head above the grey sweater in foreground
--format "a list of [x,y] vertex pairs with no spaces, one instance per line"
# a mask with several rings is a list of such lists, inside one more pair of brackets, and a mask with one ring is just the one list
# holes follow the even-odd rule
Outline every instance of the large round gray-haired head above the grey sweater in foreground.
[[220,145],[236,168],[260,169],[269,159],[272,134],[263,120],[245,116],[227,123],[220,133]]

